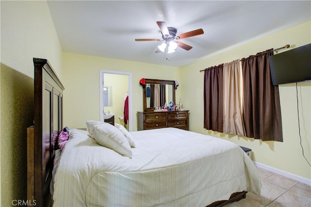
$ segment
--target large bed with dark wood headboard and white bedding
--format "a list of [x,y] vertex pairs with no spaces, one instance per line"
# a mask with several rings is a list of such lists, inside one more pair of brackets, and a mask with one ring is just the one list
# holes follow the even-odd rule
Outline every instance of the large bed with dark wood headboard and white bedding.
[[[43,71],[44,80],[57,79],[48,61],[34,59],[34,62],[35,70]],[[35,199],[38,206],[205,207],[240,200],[247,191],[260,195],[256,167],[238,145],[178,128],[125,132],[136,145],[130,146],[131,153],[126,154],[103,146],[97,131],[119,129],[99,122],[92,125],[93,129],[89,126],[88,130],[70,129],[69,141],[59,153],[55,143],[63,127],[63,87],[58,79],[54,84],[42,84],[42,77],[38,78],[41,82],[38,86],[36,80],[35,77],[38,93],[47,93],[44,85],[55,87],[47,93],[50,94],[47,100],[42,98],[43,104],[39,104],[50,106],[41,107],[42,117],[53,115],[42,120],[43,123],[35,119],[34,136],[28,137],[28,143],[32,140],[35,143],[28,157],[33,151],[36,160],[34,165],[28,162],[28,191],[35,189],[33,194],[28,193],[28,199]],[[45,101],[49,104],[44,104]],[[31,148],[30,145],[27,147]],[[58,154],[60,157],[55,158]],[[48,191],[50,187],[52,191]]]

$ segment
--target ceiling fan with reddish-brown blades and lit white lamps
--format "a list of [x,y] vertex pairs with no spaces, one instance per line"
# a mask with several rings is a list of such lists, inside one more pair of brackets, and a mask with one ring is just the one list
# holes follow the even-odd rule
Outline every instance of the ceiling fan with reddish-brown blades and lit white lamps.
[[164,52],[164,51],[167,51],[167,53],[173,53],[175,52],[175,49],[177,47],[190,50],[192,48],[191,46],[185,43],[179,42],[178,40],[204,33],[202,29],[197,29],[197,30],[193,30],[190,32],[185,32],[185,33],[176,35],[177,29],[173,27],[167,27],[164,21],[157,21],[156,24],[158,25],[162,33],[162,39],[135,39],[135,41],[163,42],[161,45],[158,46],[158,49],[155,51],[156,53]]

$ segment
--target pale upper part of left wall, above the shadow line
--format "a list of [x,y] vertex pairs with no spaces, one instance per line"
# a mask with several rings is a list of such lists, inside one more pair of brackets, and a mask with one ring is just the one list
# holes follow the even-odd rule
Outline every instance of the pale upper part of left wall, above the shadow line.
[[1,1],[1,63],[34,77],[33,58],[62,78],[62,48],[46,1]]

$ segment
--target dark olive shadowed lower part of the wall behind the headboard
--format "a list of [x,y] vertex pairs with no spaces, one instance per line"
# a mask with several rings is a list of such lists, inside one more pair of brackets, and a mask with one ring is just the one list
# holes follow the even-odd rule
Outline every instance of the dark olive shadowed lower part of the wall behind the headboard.
[[1,206],[26,199],[27,127],[33,125],[34,80],[1,64]]

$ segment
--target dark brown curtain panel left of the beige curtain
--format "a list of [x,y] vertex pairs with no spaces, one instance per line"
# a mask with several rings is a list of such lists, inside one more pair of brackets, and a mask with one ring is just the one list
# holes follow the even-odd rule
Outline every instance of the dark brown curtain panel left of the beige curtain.
[[204,128],[223,132],[223,68],[224,64],[204,71]]

